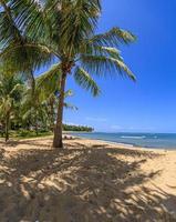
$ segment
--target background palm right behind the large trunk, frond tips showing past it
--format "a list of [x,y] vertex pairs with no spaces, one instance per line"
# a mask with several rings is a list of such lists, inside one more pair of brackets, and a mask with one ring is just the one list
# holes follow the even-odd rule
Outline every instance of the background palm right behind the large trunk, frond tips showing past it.
[[[23,100],[21,102],[21,117],[24,123],[34,127],[38,134],[39,128],[53,131],[55,122],[55,110],[59,103],[58,94],[60,88],[55,79],[50,80],[50,84],[46,81],[46,74],[34,80],[35,90],[31,93],[32,89],[27,88],[23,93]],[[59,75],[58,75],[59,77]],[[56,75],[55,75],[56,78]],[[71,90],[68,90],[64,98],[73,95]],[[77,110],[73,104],[64,102],[66,109]]]

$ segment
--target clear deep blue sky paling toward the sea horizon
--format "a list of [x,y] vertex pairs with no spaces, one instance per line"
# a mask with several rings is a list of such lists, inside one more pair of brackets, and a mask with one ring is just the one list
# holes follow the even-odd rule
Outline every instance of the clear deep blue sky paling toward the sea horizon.
[[176,1],[103,0],[99,32],[120,27],[138,40],[121,47],[137,77],[97,79],[99,98],[77,87],[72,78],[69,101],[79,111],[65,111],[64,122],[92,125],[96,131],[176,132]]

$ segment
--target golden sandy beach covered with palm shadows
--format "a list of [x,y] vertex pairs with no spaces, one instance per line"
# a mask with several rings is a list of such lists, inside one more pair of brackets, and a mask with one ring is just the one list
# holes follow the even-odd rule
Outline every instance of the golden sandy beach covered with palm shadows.
[[176,222],[176,151],[0,142],[1,222]]

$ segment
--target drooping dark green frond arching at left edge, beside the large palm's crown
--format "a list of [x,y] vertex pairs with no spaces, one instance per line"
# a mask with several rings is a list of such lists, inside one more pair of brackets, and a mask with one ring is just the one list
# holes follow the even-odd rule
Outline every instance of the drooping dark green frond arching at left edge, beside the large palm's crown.
[[31,72],[41,65],[50,64],[54,56],[49,48],[32,42],[11,43],[0,52],[3,65],[12,67],[17,71]]

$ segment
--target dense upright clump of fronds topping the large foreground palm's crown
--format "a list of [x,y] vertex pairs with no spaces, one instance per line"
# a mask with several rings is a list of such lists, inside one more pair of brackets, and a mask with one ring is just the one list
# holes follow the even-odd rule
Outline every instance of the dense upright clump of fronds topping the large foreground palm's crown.
[[[49,1],[46,7],[54,41],[69,56],[79,53],[80,44],[93,34],[101,11],[100,0]],[[59,49],[60,51],[61,49]]]

